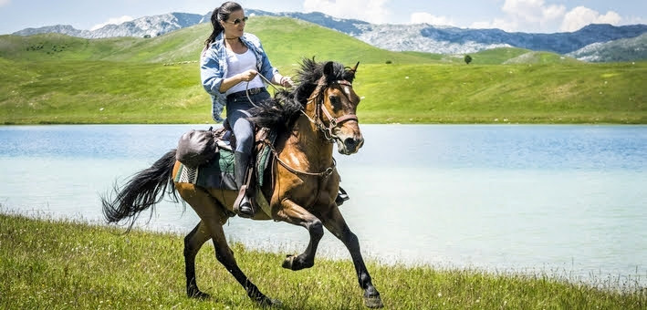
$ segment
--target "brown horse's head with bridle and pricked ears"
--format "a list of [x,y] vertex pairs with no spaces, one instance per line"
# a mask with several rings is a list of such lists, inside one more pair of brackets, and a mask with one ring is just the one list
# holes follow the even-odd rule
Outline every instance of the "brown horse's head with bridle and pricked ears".
[[[309,102],[314,102],[315,122],[331,142],[337,142],[339,153],[350,155],[364,144],[357,118],[360,97],[352,88],[352,80],[360,65],[339,68],[339,64],[328,62],[323,66],[323,76],[312,93]],[[341,72],[340,72],[341,71]]]

